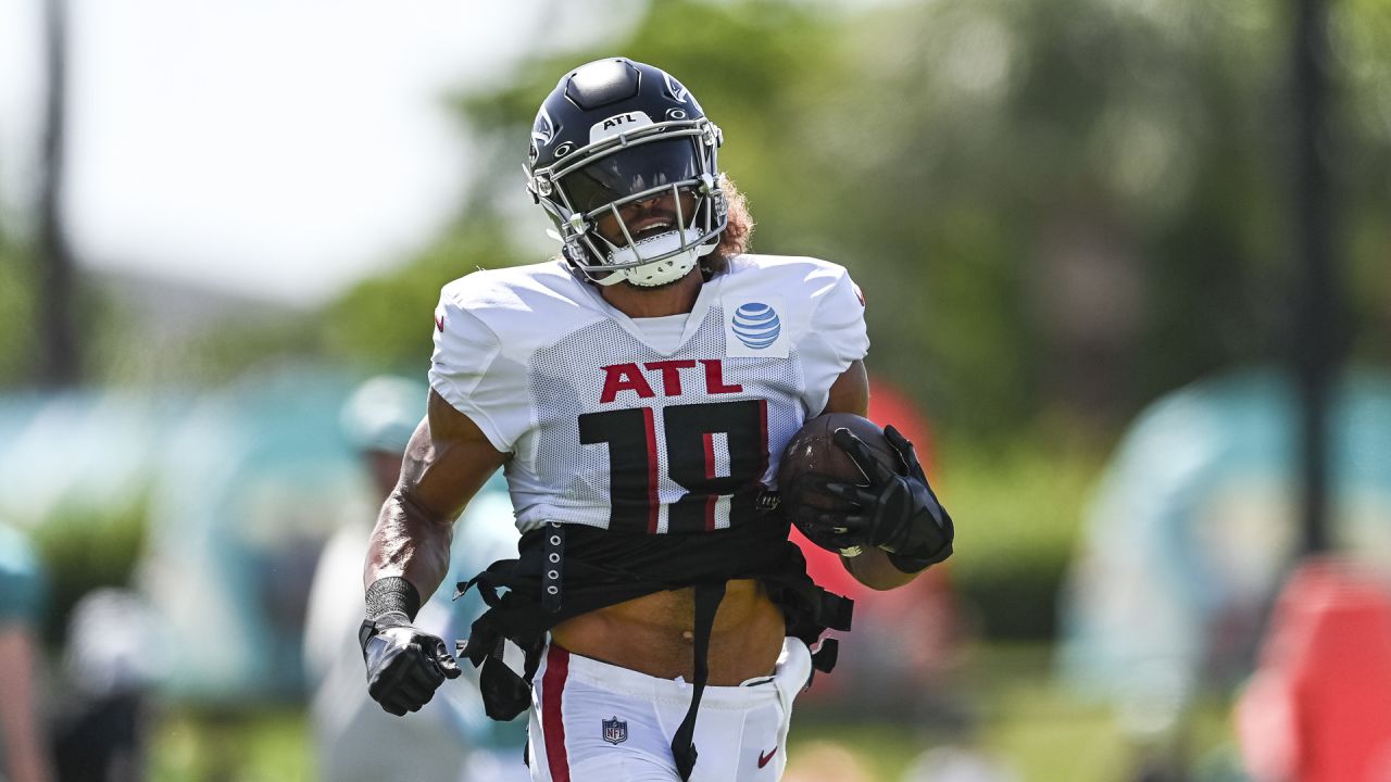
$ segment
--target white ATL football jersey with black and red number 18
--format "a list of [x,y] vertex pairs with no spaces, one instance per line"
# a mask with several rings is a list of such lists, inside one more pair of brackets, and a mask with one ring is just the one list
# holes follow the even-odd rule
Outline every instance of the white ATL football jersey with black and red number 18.
[[737,256],[679,341],[650,333],[561,260],[444,287],[430,384],[512,454],[523,532],[754,518],[787,441],[869,346],[846,270],[810,257]]

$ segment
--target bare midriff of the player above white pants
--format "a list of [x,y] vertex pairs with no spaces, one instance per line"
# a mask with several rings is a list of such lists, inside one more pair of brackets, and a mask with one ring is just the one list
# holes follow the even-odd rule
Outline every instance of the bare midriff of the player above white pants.
[[[773,672],[782,611],[754,579],[730,580],[709,637],[709,683],[733,686]],[[658,591],[561,622],[551,640],[580,654],[662,679],[696,675],[696,593]]]

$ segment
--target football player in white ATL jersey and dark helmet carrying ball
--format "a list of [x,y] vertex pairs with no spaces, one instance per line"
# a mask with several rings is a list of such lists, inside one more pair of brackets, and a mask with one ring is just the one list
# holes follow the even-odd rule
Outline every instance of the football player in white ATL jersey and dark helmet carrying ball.
[[[570,71],[524,166],[561,256],[469,274],[435,312],[428,413],[367,555],[369,690],[405,714],[459,675],[412,616],[504,466],[519,557],[460,584],[491,607],[463,654],[491,717],[530,710],[537,781],[776,778],[793,697],[833,662],[810,647],[849,629],[769,488],[807,417],[865,413],[864,305],[840,266],[746,252],[721,142],[659,68]],[[869,477],[807,525],[860,551],[855,579],[904,584],[950,554],[950,518],[897,433],[904,474],[842,434]]]

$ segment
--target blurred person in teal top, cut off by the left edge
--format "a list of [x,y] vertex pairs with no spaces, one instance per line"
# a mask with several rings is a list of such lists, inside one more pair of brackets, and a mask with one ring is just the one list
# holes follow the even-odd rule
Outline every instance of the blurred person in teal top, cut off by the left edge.
[[38,621],[45,583],[18,530],[0,525],[0,778],[49,782],[49,743],[39,710],[43,676]]

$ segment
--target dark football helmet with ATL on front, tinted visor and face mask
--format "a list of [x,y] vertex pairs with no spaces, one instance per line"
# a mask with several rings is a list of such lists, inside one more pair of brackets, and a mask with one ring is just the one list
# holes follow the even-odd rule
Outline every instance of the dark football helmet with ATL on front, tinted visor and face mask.
[[719,128],[669,74],[622,58],[590,63],[537,114],[527,189],[590,281],[665,285],[725,230],[719,143]]

